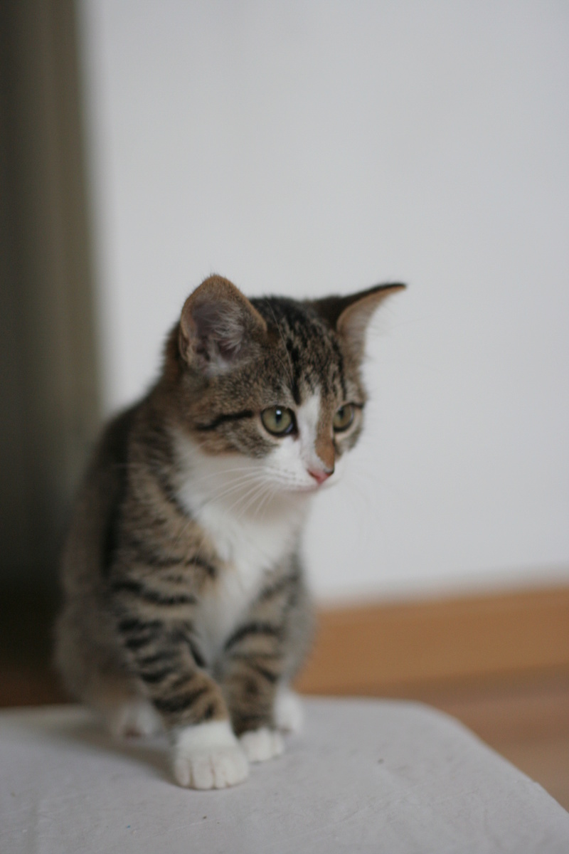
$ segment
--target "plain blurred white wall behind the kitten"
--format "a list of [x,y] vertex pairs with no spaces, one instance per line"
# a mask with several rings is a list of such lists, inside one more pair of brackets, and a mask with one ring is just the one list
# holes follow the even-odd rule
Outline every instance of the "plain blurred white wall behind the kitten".
[[569,580],[569,6],[83,0],[108,410],[209,272],[409,282],[322,598]]

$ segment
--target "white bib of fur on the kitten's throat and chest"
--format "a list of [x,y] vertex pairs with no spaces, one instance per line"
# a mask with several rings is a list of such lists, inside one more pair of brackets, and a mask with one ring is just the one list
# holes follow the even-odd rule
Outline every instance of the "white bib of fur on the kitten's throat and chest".
[[[187,445],[183,447],[184,453],[188,450]],[[263,500],[259,477],[258,500],[254,494],[252,500],[254,461],[206,457],[195,447],[191,453],[179,498],[223,561],[218,580],[201,600],[195,618],[200,649],[211,662],[245,617],[266,576],[296,546],[306,498],[272,494],[270,500]]]

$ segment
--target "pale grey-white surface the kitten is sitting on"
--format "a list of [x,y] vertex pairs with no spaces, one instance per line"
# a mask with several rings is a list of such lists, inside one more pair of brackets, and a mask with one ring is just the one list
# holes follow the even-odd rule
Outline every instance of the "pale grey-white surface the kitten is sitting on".
[[0,714],[3,854],[566,854],[569,814],[426,706],[311,700],[303,737],[241,786],[171,778],[76,707]]

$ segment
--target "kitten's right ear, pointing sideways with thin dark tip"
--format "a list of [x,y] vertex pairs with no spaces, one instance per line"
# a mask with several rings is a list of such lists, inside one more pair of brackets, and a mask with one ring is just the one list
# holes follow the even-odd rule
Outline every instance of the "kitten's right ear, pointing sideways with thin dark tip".
[[323,300],[312,302],[311,306],[345,339],[351,353],[361,360],[366,330],[375,309],[387,296],[404,290],[405,287],[406,285],[400,282],[376,284],[373,288],[361,290],[357,294],[327,296]]

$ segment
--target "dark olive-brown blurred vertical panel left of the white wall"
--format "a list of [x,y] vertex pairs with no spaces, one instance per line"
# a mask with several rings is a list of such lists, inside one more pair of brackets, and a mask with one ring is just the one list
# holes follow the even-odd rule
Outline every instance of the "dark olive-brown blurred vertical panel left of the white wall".
[[98,388],[72,0],[0,3],[0,588],[53,583]]

